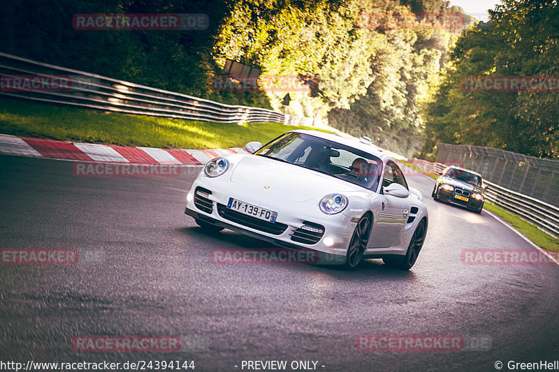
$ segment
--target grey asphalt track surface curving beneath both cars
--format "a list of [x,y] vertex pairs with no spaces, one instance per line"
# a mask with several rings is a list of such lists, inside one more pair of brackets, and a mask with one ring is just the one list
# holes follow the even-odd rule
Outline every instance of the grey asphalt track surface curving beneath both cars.
[[[75,265],[0,265],[0,361],[194,360],[194,371],[247,371],[243,360],[286,360],[286,371],[292,361],[317,371],[496,371],[502,361],[507,371],[511,360],[559,359],[559,267],[465,265],[466,248],[533,248],[485,211],[434,202],[428,177],[407,178],[430,214],[412,270],[366,260],[344,271],[210,262],[212,249],[270,245],[208,235],[183,214],[199,167],[161,178],[75,177],[72,167],[0,156],[0,248],[79,253]],[[466,341],[459,351],[361,351],[362,334]],[[76,352],[83,335],[174,335],[181,350]]]

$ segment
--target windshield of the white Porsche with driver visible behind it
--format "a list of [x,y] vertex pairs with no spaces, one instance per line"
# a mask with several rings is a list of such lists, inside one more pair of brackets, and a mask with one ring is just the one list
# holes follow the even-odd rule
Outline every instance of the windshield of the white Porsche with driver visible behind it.
[[254,154],[266,156],[376,191],[382,161],[365,151],[303,133],[286,133]]

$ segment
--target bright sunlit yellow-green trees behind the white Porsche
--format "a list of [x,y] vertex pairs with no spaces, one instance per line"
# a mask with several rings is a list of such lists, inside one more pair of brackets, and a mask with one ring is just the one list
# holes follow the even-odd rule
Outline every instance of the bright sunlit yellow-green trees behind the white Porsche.
[[363,27],[361,15],[460,13],[448,1],[237,1],[216,36],[213,55],[259,66],[268,75],[312,75],[317,89],[268,92],[276,110],[328,121],[354,135],[411,155],[421,149],[421,108],[437,85],[462,28]]

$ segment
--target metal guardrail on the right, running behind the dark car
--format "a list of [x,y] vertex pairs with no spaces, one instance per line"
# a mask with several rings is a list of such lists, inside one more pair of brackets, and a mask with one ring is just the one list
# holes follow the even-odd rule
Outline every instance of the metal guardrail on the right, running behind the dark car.
[[[447,167],[447,165],[442,163],[431,163],[430,161],[420,159],[413,159],[410,163],[416,165],[421,170],[437,174]],[[493,184],[493,182],[484,180],[484,184],[489,186],[486,191],[486,200],[533,223],[549,235],[556,238],[559,237],[558,207],[528,195],[509,190],[498,184]]]

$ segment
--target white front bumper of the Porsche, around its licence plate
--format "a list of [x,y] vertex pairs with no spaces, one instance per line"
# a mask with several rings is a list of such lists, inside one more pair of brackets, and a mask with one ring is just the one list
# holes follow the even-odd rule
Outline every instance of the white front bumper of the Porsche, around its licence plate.
[[[202,208],[200,207],[199,198],[197,199],[198,205],[194,202],[194,193],[199,188],[211,191],[208,195],[210,203],[206,202],[205,207]],[[273,225],[286,225],[285,230],[279,231],[279,233],[278,231],[266,232],[259,228],[251,227],[247,223],[243,223],[243,221],[233,221],[230,216],[224,214],[224,211],[227,211],[226,205],[229,198],[235,198],[262,208],[277,211],[277,221]],[[270,197],[270,194],[266,193],[266,191],[259,191],[235,184],[228,179],[228,176],[210,179],[203,174],[200,174],[194,181],[187,195],[187,206],[184,209],[184,213],[201,221],[256,237],[277,246],[312,249],[321,253],[320,263],[334,264],[344,262],[349,240],[356,225],[349,216],[343,213],[332,216],[322,213],[319,209],[319,200],[294,202],[284,198]],[[300,231],[300,228],[303,225],[308,225],[308,223],[324,227],[324,234],[321,238],[314,244],[303,244],[299,241],[293,241],[293,235],[296,231]],[[268,225],[273,226],[272,224]],[[325,239],[328,244],[325,244]]]

